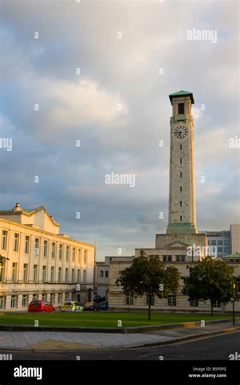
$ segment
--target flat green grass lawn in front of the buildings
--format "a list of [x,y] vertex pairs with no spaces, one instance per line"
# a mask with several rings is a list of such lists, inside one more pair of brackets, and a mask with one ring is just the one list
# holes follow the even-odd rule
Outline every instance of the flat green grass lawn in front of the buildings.
[[82,313],[22,313],[2,314],[0,324],[34,325],[38,320],[41,325],[54,326],[84,326],[84,327],[117,327],[118,320],[122,327],[144,326],[156,324],[171,324],[177,322],[192,322],[201,320],[216,320],[231,318],[231,316],[196,315],[196,314],[159,314],[153,313],[151,321],[147,320],[147,313],[108,313],[108,312],[82,312]]

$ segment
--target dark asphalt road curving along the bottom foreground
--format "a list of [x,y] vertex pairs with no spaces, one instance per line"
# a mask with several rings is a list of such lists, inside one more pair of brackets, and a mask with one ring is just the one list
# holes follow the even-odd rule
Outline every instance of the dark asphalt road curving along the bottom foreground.
[[[204,338],[175,345],[154,348],[92,350],[79,352],[17,352],[0,351],[12,354],[13,360],[227,360],[229,355],[240,353],[240,332]],[[79,358],[78,358],[79,359]]]

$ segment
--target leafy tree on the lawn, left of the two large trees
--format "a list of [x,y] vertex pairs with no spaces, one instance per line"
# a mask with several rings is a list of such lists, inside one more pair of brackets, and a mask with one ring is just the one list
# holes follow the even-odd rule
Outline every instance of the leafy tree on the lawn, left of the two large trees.
[[168,298],[169,294],[177,295],[180,274],[176,267],[166,267],[159,259],[149,259],[143,250],[134,258],[130,267],[119,272],[115,284],[122,286],[125,295],[132,297],[144,294],[148,297],[148,320],[151,319],[151,299]]

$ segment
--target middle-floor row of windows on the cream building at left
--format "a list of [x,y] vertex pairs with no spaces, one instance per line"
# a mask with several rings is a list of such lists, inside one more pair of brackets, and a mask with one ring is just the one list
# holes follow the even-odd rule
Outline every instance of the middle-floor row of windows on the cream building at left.
[[[0,262],[0,282],[4,282],[4,269],[5,269],[5,263]],[[33,283],[38,283],[37,278],[37,271],[38,271],[38,265],[33,265]],[[55,283],[54,280],[54,273],[55,269],[54,266],[51,266],[51,274],[50,274],[50,282]],[[42,271],[42,281],[46,282],[46,276],[47,276],[47,265],[43,265],[43,271]],[[75,282],[76,278],[76,282]],[[69,280],[69,269],[66,267],[65,269],[65,283],[68,283]],[[17,263],[13,262],[12,264],[12,279],[11,281],[13,283],[17,283]],[[28,283],[28,263],[23,264],[23,282]],[[75,269],[72,268],[71,270],[71,283],[80,283],[81,282],[81,272],[80,269],[77,269],[77,275],[75,277]],[[62,267],[58,268],[58,283],[62,283]],[[83,271],[83,283],[86,283],[86,270]]]

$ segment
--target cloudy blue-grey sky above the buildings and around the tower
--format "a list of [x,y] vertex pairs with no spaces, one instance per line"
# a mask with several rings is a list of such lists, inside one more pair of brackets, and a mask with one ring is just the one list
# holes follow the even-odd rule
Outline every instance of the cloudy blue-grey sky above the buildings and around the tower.
[[[61,233],[97,241],[98,260],[154,247],[168,224],[168,95],[186,90],[195,100],[197,228],[240,223],[239,148],[229,148],[239,137],[238,8],[2,1],[0,125],[13,142],[0,148],[1,208],[44,205]],[[216,30],[216,43],[187,40],[193,28]],[[105,184],[111,172],[135,174],[135,187]]]

